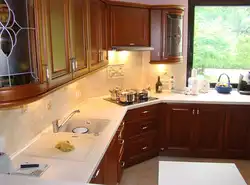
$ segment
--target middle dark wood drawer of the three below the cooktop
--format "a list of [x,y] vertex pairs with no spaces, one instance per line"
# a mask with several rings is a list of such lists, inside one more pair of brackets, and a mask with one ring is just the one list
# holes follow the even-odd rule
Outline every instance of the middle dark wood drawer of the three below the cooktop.
[[149,131],[157,130],[157,124],[157,120],[155,119],[127,122],[124,131],[125,138],[129,139]]

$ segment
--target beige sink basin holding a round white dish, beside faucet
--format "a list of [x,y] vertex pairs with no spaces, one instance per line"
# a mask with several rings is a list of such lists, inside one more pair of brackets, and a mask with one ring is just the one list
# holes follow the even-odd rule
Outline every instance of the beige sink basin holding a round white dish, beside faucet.
[[[99,136],[110,123],[108,119],[71,120],[59,132],[73,132],[78,134],[93,134]],[[86,132],[87,131],[87,132]]]

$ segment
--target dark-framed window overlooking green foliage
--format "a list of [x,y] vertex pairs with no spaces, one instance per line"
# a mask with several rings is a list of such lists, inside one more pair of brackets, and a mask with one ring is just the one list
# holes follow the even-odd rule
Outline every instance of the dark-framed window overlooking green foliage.
[[191,0],[189,10],[188,77],[194,67],[213,86],[222,73],[236,86],[250,70],[250,4]]

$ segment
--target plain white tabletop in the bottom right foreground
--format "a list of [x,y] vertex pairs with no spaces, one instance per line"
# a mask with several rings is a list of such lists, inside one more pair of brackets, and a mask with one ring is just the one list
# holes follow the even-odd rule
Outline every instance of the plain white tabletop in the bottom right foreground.
[[159,163],[159,185],[247,185],[235,164]]

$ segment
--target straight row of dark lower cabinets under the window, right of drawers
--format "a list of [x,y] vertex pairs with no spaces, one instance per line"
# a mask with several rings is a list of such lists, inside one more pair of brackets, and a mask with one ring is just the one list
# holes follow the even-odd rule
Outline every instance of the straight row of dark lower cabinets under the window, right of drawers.
[[161,155],[250,159],[250,106],[166,104]]

